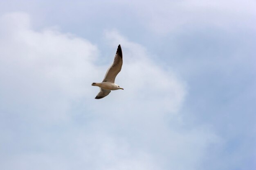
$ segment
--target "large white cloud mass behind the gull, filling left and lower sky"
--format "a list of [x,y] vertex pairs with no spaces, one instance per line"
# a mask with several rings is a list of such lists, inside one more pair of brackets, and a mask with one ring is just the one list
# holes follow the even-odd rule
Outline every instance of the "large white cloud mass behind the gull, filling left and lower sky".
[[219,142],[205,126],[170,124],[182,119],[184,83],[117,31],[105,36],[112,57],[122,46],[116,83],[125,90],[95,100],[98,88],[90,84],[109,66],[97,64],[96,45],[49,28],[34,31],[25,13],[3,15],[0,30],[0,133],[7,137],[1,168],[193,170]]

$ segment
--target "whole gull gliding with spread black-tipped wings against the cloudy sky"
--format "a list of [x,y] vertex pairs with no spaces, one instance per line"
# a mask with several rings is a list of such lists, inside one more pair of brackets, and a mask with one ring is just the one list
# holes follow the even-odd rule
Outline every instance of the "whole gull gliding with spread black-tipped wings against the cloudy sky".
[[101,99],[103,97],[108,96],[110,94],[111,90],[118,90],[122,89],[119,85],[115,84],[115,78],[117,74],[121,71],[123,65],[123,54],[122,49],[119,44],[117,47],[117,52],[114,58],[114,62],[108,68],[108,71],[105,74],[105,77],[101,83],[92,83],[92,86],[98,86],[100,87],[100,91],[95,97],[96,99]]

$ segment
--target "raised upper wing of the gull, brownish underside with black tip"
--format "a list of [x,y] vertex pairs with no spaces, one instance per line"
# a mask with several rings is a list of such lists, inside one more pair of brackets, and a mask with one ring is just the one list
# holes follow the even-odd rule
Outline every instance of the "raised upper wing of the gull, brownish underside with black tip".
[[122,65],[123,65],[123,54],[122,54],[121,46],[119,44],[114,62],[110,66],[110,68],[108,68],[108,71],[106,72],[106,75],[102,82],[108,81],[110,83],[115,83],[115,78],[117,74],[121,71]]

